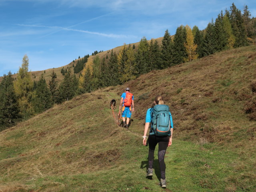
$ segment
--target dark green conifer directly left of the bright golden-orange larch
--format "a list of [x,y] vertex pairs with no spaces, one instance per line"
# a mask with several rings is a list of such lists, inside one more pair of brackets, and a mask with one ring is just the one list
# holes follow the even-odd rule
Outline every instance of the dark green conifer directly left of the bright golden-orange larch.
[[173,38],[173,56],[172,65],[180,64],[187,57],[186,48],[184,43],[186,42],[186,29],[183,25],[179,26],[176,30],[175,36]]

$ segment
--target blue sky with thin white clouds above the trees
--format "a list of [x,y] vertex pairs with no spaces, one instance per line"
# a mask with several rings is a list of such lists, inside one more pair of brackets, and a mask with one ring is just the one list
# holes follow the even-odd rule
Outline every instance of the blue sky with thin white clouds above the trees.
[[204,29],[232,2],[256,16],[254,0],[0,0],[0,76],[16,73],[24,54],[30,70],[44,70],[181,24]]

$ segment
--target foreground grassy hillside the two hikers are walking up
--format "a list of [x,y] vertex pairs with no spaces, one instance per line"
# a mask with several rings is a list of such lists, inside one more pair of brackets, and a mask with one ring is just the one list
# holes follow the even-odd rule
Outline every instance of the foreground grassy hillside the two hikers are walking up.
[[[256,76],[255,52],[248,46],[152,71],[1,132],[0,191],[255,191],[256,123],[243,111]],[[128,132],[109,109],[126,86],[135,95]],[[148,147],[141,144],[156,94],[170,106],[175,128],[166,190],[158,186],[156,154],[155,176],[145,178]]]

